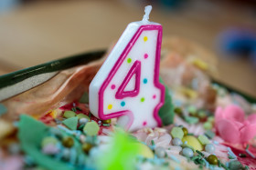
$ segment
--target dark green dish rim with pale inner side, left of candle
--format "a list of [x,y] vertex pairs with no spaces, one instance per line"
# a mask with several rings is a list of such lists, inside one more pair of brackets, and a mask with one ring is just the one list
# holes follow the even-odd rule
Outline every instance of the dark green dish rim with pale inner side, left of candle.
[[105,52],[106,50],[99,50],[73,55],[42,65],[28,67],[10,74],[0,75],[0,102],[43,84],[54,75],[57,75],[61,70],[77,65],[86,65],[98,60]]

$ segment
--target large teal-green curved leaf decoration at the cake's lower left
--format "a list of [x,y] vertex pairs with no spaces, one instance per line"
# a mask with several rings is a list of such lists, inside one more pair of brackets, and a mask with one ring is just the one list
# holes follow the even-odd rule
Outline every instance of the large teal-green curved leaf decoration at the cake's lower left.
[[[29,155],[33,158],[34,162],[48,170],[76,170],[78,169],[75,166],[68,165],[63,161],[58,161],[51,156],[44,155],[41,153],[40,147],[41,142],[44,137],[48,135],[48,131],[51,127],[44,125],[43,123],[35,120],[31,116],[21,115],[20,121],[18,124],[18,138],[22,150],[26,155]],[[67,135],[63,132],[63,135]],[[71,136],[72,137],[72,136]],[[77,154],[82,154],[80,143],[75,140],[74,147],[77,149]]]

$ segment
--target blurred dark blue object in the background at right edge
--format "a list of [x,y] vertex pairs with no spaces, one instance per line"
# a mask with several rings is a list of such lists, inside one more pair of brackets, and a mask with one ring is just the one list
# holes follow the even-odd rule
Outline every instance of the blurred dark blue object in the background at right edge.
[[220,35],[220,48],[233,56],[249,55],[256,65],[256,32],[231,28]]

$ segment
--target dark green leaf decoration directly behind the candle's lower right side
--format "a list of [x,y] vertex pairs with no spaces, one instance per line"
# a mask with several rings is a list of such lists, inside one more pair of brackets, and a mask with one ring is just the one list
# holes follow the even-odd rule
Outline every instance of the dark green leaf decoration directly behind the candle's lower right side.
[[[163,79],[159,77],[160,83],[165,85]],[[170,125],[174,123],[174,105],[172,97],[169,95],[169,90],[167,85],[165,85],[165,104],[160,108],[158,115],[160,116],[163,125]]]

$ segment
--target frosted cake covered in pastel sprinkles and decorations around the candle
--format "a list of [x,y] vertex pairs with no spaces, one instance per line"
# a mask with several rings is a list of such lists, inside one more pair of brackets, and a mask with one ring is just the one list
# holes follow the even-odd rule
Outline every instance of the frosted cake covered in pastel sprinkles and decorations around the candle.
[[74,66],[1,102],[0,169],[256,169],[256,107],[212,83],[217,64],[199,45],[163,42],[163,126],[125,132],[89,109],[102,59]]

